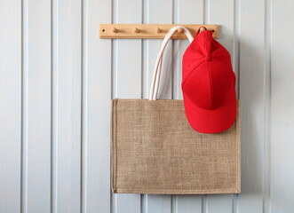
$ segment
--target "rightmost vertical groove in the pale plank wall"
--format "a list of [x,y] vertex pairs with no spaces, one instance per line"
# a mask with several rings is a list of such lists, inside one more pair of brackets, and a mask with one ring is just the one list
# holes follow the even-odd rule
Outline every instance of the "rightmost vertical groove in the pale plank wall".
[[271,68],[271,50],[272,50],[272,0],[265,1],[265,57],[264,57],[264,159],[263,159],[263,213],[271,212],[270,205],[270,112],[271,112],[271,93],[272,93],[272,68]]

